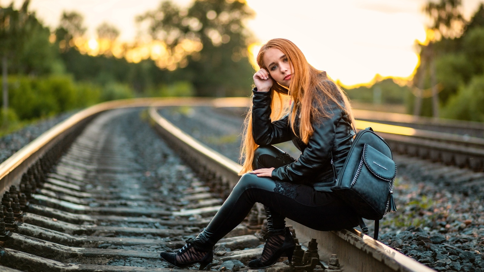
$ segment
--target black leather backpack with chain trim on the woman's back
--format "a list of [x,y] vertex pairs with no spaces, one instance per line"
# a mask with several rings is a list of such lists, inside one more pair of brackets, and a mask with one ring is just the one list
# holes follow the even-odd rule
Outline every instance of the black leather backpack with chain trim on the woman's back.
[[[331,154],[333,165],[333,154]],[[356,134],[341,172],[336,173],[335,194],[365,219],[375,220],[374,239],[378,239],[378,220],[390,210],[396,211],[393,202],[393,182],[396,165],[390,146],[371,127]],[[363,233],[368,232],[360,218]]]

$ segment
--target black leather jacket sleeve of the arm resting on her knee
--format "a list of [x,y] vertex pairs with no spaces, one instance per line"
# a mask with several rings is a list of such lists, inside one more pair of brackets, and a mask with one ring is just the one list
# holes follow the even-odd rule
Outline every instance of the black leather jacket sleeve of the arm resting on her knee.
[[309,137],[307,147],[302,151],[298,160],[272,171],[274,180],[301,183],[315,177],[327,167],[331,160],[336,126],[342,118],[342,111],[334,105],[328,113],[332,114],[331,117],[313,122],[314,133]]

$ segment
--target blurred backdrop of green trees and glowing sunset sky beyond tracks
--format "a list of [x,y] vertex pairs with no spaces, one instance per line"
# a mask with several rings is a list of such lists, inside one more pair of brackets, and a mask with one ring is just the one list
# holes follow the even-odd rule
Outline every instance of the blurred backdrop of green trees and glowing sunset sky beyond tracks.
[[479,0],[0,0],[1,133],[113,99],[249,96],[298,45],[352,106],[484,121]]

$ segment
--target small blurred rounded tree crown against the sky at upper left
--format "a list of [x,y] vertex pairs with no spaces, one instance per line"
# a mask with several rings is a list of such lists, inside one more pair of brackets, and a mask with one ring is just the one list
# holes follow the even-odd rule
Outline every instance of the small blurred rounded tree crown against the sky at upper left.
[[74,39],[84,35],[87,28],[83,23],[84,17],[75,11],[62,13],[61,23],[55,31],[56,42],[59,44],[61,52],[74,47]]

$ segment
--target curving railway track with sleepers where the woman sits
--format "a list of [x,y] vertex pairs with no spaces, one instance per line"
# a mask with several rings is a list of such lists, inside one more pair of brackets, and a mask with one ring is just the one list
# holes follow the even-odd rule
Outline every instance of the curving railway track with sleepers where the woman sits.
[[[154,107],[146,118],[166,143],[150,136],[152,131],[136,121],[139,111],[128,107],[153,103],[236,104],[199,99],[107,103],[73,116],[17,152],[0,165],[7,223],[3,231],[0,222],[1,271],[174,270],[159,259],[159,251],[181,248],[208,223],[237,182],[240,166],[181,132]],[[212,270],[248,269],[243,264],[262,250],[254,235],[261,216],[255,209],[248,222],[216,245]],[[305,263],[279,263],[268,271],[311,271],[318,259],[333,265],[329,271],[338,271],[332,254],[347,272],[432,271],[357,230],[318,232],[288,223],[302,248],[309,248]]]

